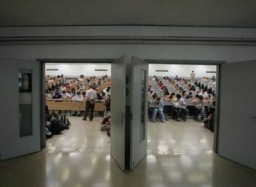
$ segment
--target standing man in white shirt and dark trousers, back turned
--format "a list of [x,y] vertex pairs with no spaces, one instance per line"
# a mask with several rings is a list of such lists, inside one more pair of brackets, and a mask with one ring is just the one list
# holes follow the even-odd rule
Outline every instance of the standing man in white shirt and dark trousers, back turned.
[[90,121],[93,120],[93,112],[94,112],[94,106],[95,106],[95,100],[96,100],[96,91],[93,90],[93,86],[90,85],[90,89],[87,90],[85,97],[87,98],[86,106],[85,106],[85,116],[83,117],[83,120],[87,120],[87,116],[89,114]]

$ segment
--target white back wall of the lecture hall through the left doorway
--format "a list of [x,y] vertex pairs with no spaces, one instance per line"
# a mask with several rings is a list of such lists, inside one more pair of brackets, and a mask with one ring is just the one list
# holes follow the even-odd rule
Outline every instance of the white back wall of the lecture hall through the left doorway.
[[[47,69],[58,69],[58,71],[48,71]],[[96,69],[108,71],[95,71]],[[45,74],[49,76],[103,76],[107,74],[111,76],[111,65],[108,63],[46,63]]]

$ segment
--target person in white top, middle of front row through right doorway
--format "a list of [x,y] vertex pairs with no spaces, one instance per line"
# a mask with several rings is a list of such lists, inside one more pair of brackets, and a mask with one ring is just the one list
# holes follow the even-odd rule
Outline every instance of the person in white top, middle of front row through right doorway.
[[186,103],[181,97],[181,94],[177,94],[176,97],[176,100],[174,100],[174,108],[177,111],[177,121],[186,121],[186,114],[189,113],[189,110],[186,108]]

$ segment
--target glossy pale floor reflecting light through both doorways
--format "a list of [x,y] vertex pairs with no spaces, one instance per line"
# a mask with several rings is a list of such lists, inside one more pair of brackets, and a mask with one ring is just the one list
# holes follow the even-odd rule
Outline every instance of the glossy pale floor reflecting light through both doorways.
[[256,186],[256,172],[216,156],[213,134],[202,124],[148,124],[148,156],[133,172],[122,172],[109,156],[100,118],[72,126],[47,148],[0,162],[0,186]]

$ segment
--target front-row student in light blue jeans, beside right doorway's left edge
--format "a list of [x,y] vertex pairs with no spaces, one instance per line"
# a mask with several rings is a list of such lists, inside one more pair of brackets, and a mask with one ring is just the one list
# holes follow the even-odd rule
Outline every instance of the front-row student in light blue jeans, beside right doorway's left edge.
[[165,117],[163,113],[163,100],[161,97],[157,97],[156,99],[152,100],[150,103],[150,107],[153,108],[153,114],[151,116],[151,122],[156,122],[156,115],[160,114],[161,122],[165,122]]

